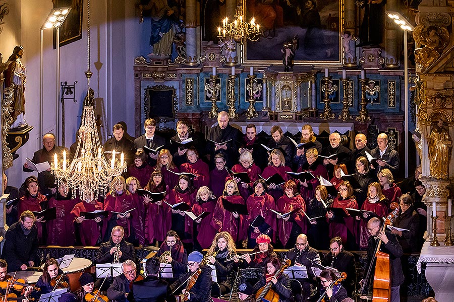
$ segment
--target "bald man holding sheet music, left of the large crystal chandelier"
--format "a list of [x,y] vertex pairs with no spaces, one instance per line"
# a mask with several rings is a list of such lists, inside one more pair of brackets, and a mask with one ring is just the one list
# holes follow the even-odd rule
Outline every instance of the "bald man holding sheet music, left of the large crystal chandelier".
[[[37,150],[33,154],[33,158],[31,160],[33,164],[48,162],[50,165],[50,163],[53,163],[53,155],[55,153],[58,154],[60,159],[63,158],[63,151],[66,151],[66,154],[69,156],[68,148],[55,145],[55,135],[53,133],[44,134],[42,137],[42,144],[42,149]],[[25,162],[22,170],[24,172],[33,172],[27,162]],[[38,173],[38,184],[42,194],[50,194],[51,189],[56,187],[55,177],[50,174],[50,168],[47,171]]]

